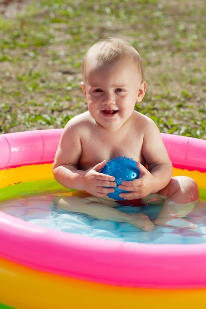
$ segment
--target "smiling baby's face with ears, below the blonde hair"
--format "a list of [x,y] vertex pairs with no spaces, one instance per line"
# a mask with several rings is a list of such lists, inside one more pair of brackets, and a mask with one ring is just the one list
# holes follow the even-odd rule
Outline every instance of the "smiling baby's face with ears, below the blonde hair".
[[91,116],[108,129],[120,128],[131,116],[136,101],[144,96],[140,98],[141,87],[141,76],[127,59],[103,66],[87,64],[82,83]]

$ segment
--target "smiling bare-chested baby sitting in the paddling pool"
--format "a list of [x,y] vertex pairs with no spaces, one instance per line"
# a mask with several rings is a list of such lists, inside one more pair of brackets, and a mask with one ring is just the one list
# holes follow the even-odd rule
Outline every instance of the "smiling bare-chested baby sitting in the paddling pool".
[[[66,210],[127,222],[144,231],[152,231],[155,225],[178,227],[177,222],[184,219],[176,219],[191,212],[199,200],[198,186],[189,177],[172,178],[172,164],[158,127],[134,111],[147,86],[139,53],[123,39],[97,42],[83,59],[82,74],[88,111],[69,120],[53,163],[55,179],[77,191],[56,202]],[[113,176],[100,171],[115,156],[132,158],[140,170],[138,179],[119,186],[125,191],[120,197],[130,205],[135,200],[164,203],[156,220],[124,213],[116,208],[121,201],[108,197],[117,184]]]

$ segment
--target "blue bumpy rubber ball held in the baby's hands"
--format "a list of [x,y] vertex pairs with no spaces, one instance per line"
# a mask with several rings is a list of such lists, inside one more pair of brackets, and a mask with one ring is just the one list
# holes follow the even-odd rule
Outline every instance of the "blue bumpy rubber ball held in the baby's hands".
[[124,200],[124,198],[120,197],[119,194],[128,192],[120,190],[118,186],[121,185],[123,181],[139,178],[140,174],[140,171],[137,168],[137,162],[130,158],[127,158],[126,156],[116,156],[115,158],[109,160],[101,169],[101,172],[106,175],[115,177],[117,187],[114,188],[115,192],[108,193],[108,196],[116,200]]

